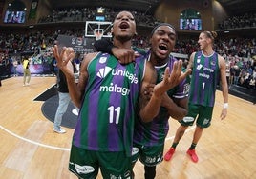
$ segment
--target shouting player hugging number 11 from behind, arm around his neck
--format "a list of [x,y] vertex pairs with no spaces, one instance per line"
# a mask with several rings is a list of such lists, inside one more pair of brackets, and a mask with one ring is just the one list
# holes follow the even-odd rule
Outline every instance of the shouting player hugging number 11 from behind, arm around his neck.
[[[172,65],[177,61],[176,58],[170,56],[176,38],[176,30],[170,24],[162,23],[152,30],[151,49],[146,53],[146,58],[157,71],[157,83],[161,82],[164,70],[167,67],[172,70]],[[104,45],[102,46],[102,44]],[[132,59],[130,51],[117,51],[117,48],[113,48],[112,44],[107,41],[103,41],[102,44],[97,41],[96,50],[111,50],[109,52],[113,52],[115,55],[123,53],[122,63],[129,63],[129,59]],[[187,114],[188,89],[189,84],[185,80],[175,88],[169,89],[161,102],[160,112],[152,122],[144,123],[139,115],[136,116],[133,162],[135,163],[139,159],[144,165],[145,179],[155,178],[156,166],[163,160],[164,141],[169,130],[169,117],[181,120]]]

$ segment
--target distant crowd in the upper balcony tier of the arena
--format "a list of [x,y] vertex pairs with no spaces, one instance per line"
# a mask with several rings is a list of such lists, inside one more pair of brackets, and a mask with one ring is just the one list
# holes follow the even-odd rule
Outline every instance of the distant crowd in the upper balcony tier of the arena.
[[[105,8],[105,21],[112,21],[117,11]],[[154,16],[144,12],[133,11],[140,26],[154,27],[158,21]],[[53,14],[39,19],[38,23],[85,22],[96,20],[96,8],[72,8],[69,10],[53,10]],[[243,15],[231,16],[219,24],[220,30],[256,27],[256,13],[247,12]]]

